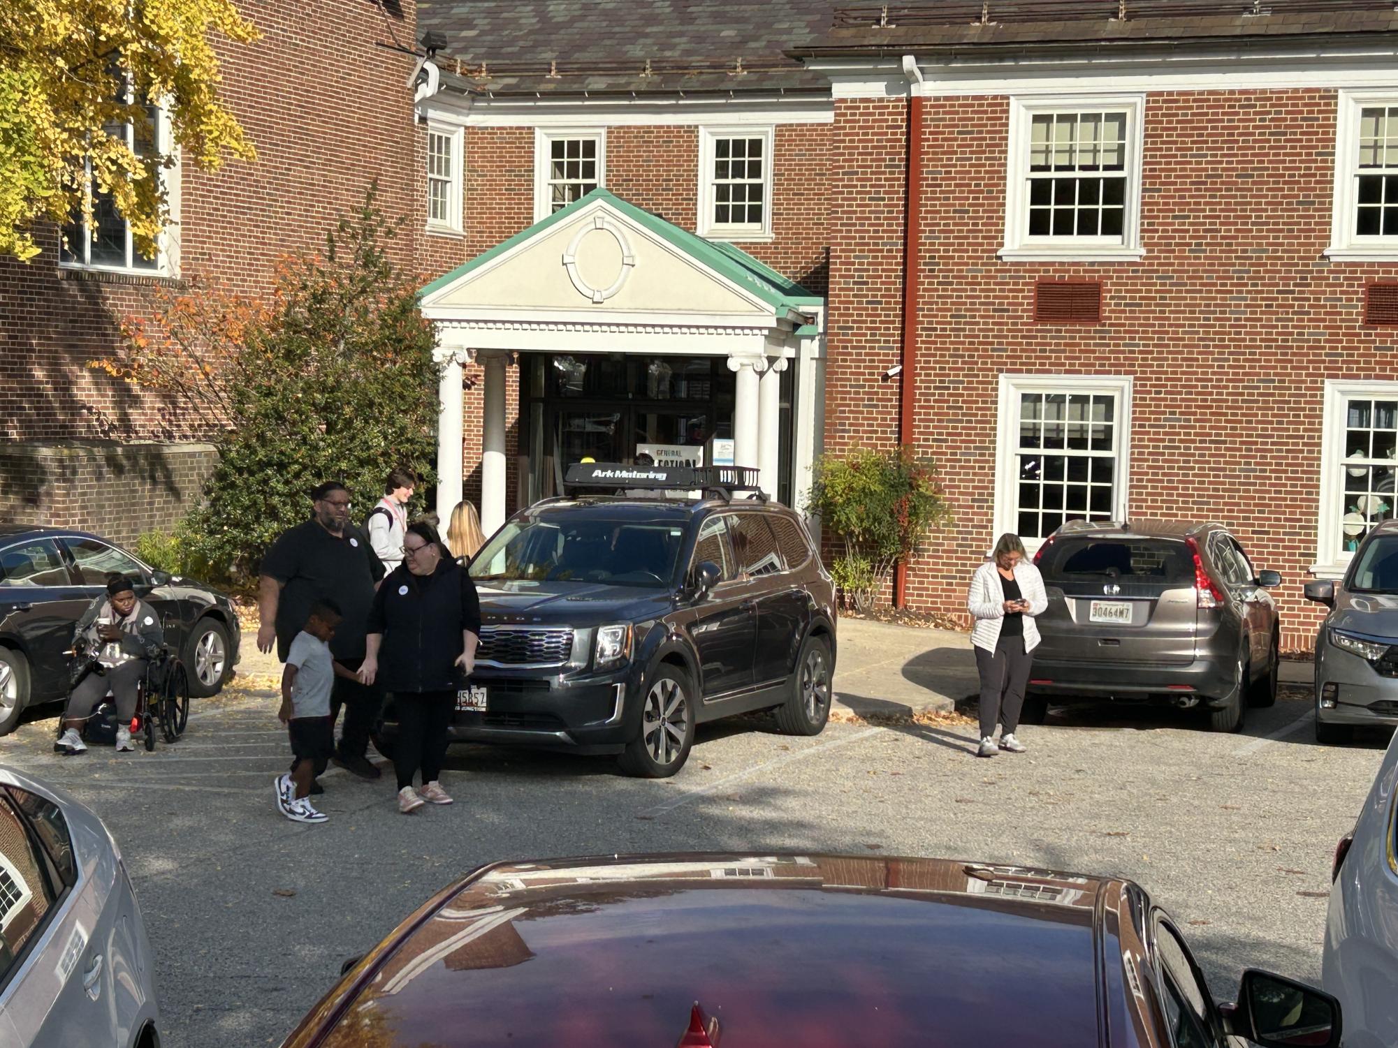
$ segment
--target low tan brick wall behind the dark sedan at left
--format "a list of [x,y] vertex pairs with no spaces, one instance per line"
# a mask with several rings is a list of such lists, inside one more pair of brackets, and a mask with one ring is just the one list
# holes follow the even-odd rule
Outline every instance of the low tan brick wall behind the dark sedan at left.
[[183,517],[217,463],[199,443],[0,443],[0,520],[131,544]]

